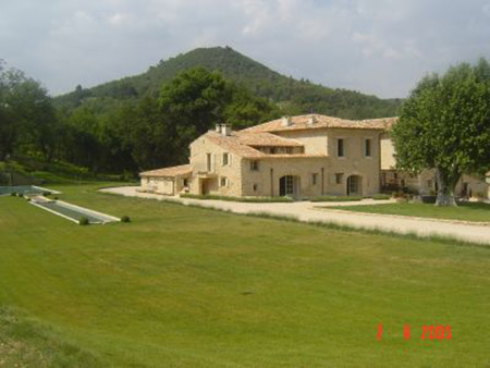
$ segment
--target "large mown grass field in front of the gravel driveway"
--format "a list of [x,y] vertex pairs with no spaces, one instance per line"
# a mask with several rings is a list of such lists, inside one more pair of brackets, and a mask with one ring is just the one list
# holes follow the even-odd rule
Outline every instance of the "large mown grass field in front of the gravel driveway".
[[[10,366],[490,365],[489,248],[53,188],[133,222],[78,226],[0,198]],[[421,340],[425,324],[451,340]]]

